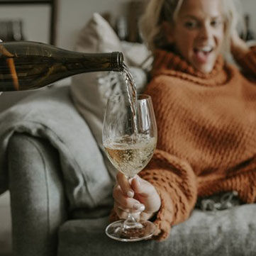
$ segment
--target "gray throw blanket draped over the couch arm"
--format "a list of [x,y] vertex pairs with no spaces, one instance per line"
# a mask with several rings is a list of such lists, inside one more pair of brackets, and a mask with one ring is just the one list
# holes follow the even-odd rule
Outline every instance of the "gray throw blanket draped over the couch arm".
[[69,87],[40,90],[0,114],[0,194],[8,189],[6,149],[13,133],[45,138],[57,149],[70,210],[110,204],[111,178]]

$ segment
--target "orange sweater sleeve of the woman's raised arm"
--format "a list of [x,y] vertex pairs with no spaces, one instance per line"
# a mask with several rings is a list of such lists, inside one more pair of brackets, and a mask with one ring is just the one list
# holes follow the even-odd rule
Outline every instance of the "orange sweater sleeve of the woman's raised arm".
[[250,52],[248,52],[244,57],[236,59],[236,61],[247,74],[251,74],[256,77],[256,46],[252,46],[250,48]]

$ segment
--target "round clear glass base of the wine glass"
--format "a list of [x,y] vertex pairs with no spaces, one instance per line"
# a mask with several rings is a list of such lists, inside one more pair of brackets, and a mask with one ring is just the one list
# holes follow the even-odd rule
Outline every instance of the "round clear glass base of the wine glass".
[[150,238],[156,230],[155,224],[150,221],[140,221],[133,228],[123,228],[125,220],[116,221],[106,227],[109,238],[122,242],[135,242]]

